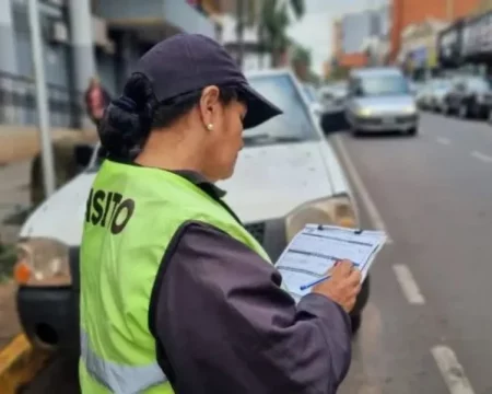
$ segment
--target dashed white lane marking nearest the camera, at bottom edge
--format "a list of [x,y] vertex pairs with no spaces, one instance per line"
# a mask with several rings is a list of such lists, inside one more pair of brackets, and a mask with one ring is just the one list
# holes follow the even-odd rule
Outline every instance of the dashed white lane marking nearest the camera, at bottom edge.
[[452,394],[475,394],[465,370],[450,348],[434,346],[431,352]]

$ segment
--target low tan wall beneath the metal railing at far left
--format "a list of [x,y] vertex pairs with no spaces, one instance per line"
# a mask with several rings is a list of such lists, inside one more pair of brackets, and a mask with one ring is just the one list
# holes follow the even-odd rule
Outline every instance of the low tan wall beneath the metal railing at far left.
[[[67,138],[81,142],[97,141],[95,129],[54,128],[51,137],[54,140]],[[0,125],[0,165],[30,160],[39,150],[39,131],[36,127]]]

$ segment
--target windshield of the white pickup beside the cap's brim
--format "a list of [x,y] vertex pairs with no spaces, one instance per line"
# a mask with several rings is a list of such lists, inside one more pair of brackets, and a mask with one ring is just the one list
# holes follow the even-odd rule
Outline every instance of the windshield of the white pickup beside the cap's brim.
[[303,96],[289,74],[250,77],[250,85],[283,114],[244,130],[245,146],[319,140]]

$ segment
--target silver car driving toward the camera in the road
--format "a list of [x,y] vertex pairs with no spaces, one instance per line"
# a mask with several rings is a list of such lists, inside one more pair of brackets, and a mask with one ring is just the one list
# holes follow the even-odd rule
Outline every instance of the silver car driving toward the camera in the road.
[[408,80],[396,67],[352,70],[345,106],[353,135],[399,131],[415,136],[419,114]]

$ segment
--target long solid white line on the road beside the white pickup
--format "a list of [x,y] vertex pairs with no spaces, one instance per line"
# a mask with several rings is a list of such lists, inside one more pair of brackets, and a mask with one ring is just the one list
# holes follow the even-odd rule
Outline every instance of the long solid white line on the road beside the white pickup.
[[353,185],[359,192],[359,196],[361,197],[362,202],[365,206],[365,209],[367,211],[367,215],[370,216],[370,219],[373,223],[373,227],[376,230],[383,231],[386,233],[387,236],[387,244],[391,244],[393,240],[389,236],[388,231],[386,230],[386,225],[383,221],[383,218],[379,215],[379,211],[376,208],[376,205],[374,204],[373,199],[371,198],[367,188],[365,187],[364,183],[362,182],[361,176],[358,173],[358,170],[355,169],[355,165],[352,162],[352,159],[350,159],[349,152],[347,151],[345,147],[343,146],[342,140],[339,136],[333,136],[335,144],[338,147],[338,151],[340,152],[340,155],[345,164],[347,171],[349,172],[350,177],[352,178]]

